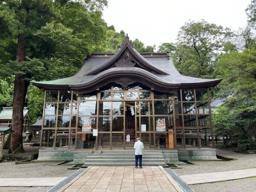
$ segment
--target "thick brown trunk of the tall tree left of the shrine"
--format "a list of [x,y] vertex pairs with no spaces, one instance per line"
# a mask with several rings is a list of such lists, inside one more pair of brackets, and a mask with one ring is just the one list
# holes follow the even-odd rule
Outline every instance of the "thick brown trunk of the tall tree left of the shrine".
[[[19,34],[17,45],[17,62],[25,61],[25,36]],[[12,133],[10,141],[10,151],[14,152],[19,147],[22,148],[22,131],[23,131],[23,108],[25,103],[26,91],[29,86],[29,82],[24,79],[24,75],[16,74],[14,81],[14,93],[13,93],[13,113],[12,113]]]

